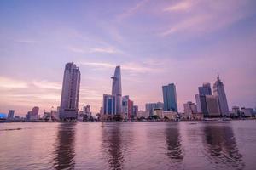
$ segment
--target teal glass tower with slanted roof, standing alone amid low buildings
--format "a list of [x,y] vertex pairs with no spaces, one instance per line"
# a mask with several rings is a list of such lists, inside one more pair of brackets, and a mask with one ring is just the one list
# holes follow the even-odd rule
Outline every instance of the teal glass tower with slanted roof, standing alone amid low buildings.
[[177,94],[174,83],[163,86],[164,111],[177,111]]

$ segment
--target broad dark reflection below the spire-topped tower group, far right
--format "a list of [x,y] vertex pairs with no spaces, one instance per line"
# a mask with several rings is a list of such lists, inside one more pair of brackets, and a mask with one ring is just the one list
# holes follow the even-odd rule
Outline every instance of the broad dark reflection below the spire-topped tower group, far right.
[[242,168],[242,155],[236,146],[236,139],[230,126],[204,127],[205,147],[207,149],[207,160],[215,163],[217,167]]

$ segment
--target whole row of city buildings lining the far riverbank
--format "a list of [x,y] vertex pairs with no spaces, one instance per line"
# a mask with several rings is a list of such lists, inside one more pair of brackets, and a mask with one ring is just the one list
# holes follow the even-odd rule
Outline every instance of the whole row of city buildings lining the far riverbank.
[[[79,111],[79,89],[80,89],[80,71],[75,64],[67,63],[65,65],[61,105],[55,111],[44,111],[42,117],[39,116],[39,107],[35,106],[32,111],[26,114],[26,121],[92,121],[96,117],[92,116],[90,105],[85,105]],[[228,101],[224,90],[224,83],[217,77],[213,84],[213,93],[211,84],[205,82],[198,88],[198,94],[195,94],[195,103],[188,101],[183,104],[183,112],[177,110],[177,93],[174,83],[162,86],[163,102],[145,104],[145,111],[139,111],[138,106],[130,99],[129,95],[122,95],[121,86],[121,68],[116,66],[112,79],[111,94],[103,94],[102,107],[97,114],[98,120],[135,120],[135,119],[166,119],[166,120],[201,120],[206,117],[248,117],[255,116],[252,108],[233,106],[229,111]],[[8,116],[1,114],[0,120],[20,120],[15,116],[14,110],[9,110]]]

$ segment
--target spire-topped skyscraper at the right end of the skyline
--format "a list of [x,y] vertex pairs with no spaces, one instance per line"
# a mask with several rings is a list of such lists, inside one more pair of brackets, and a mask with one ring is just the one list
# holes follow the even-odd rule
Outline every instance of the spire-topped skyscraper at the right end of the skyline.
[[213,94],[218,97],[218,105],[220,113],[223,116],[228,116],[230,114],[227,97],[224,90],[224,83],[221,82],[219,77],[213,85]]

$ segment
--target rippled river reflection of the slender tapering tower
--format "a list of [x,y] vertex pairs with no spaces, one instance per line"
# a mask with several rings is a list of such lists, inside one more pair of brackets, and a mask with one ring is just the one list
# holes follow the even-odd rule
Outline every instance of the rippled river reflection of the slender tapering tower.
[[123,169],[124,156],[122,153],[122,139],[120,124],[102,129],[102,149],[107,152],[110,169]]

